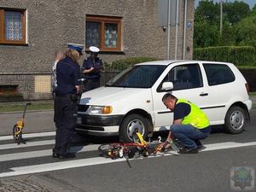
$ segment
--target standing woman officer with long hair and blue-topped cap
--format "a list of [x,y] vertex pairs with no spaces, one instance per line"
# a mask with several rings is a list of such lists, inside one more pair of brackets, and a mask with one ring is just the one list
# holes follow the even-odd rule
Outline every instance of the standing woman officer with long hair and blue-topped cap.
[[74,158],[68,153],[69,144],[76,126],[77,94],[79,93],[79,55],[84,45],[68,44],[66,57],[56,66],[57,88],[55,90],[55,148],[53,157],[61,160]]

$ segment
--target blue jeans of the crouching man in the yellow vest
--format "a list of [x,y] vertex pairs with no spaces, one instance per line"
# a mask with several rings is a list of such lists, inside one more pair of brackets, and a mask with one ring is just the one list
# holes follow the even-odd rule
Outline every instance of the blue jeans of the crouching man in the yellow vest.
[[197,148],[195,141],[207,138],[212,129],[208,126],[200,131],[192,125],[176,124],[170,127],[170,131],[172,132],[172,136],[176,137],[187,148]]

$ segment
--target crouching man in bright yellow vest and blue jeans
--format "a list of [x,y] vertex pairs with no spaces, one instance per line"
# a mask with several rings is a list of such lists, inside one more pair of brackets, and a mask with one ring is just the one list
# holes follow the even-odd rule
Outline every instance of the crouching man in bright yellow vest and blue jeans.
[[167,140],[171,133],[185,146],[180,153],[197,154],[202,148],[201,139],[205,139],[211,132],[207,115],[194,103],[184,99],[177,99],[170,93],[162,98],[162,102],[173,111],[173,124],[170,128]]

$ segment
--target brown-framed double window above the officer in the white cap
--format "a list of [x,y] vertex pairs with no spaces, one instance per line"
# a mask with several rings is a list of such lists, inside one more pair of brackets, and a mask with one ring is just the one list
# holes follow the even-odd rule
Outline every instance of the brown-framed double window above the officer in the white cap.
[[86,15],[86,49],[96,46],[102,51],[121,50],[120,17]]

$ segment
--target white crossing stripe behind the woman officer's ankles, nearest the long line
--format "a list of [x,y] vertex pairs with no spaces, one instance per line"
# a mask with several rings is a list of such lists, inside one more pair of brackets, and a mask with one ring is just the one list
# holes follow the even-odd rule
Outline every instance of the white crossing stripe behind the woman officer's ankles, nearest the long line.
[[[99,146],[100,145],[97,144],[97,145],[72,147],[70,148],[70,153],[95,151],[98,149]],[[51,156],[51,155],[52,155],[52,149],[30,151],[30,152],[23,152],[23,153],[16,153],[16,154],[2,154],[0,155],[0,162],[9,161],[9,160],[25,160],[29,158],[44,157],[44,156]]]

